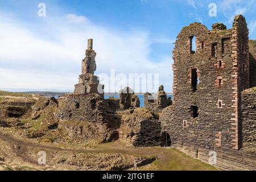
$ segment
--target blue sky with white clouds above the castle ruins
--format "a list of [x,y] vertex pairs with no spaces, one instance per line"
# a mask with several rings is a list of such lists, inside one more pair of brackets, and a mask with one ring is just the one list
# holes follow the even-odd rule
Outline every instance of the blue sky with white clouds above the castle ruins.
[[[41,2],[46,17],[38,16]],[[216,3],[216,17],[208,15],[209,3]],[[221,22],[231,28],[242,14],[255,39],[255,11],[255,0],[0,0],[0,89],[72,91],[86,39],[93,38],[97,75],[159,73],[159,84],[171,92],[171,51],[182,27]]]

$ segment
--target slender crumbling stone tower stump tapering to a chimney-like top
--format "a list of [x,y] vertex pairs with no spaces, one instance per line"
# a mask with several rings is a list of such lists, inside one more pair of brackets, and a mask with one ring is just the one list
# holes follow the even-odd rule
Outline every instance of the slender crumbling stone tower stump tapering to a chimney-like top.
[[100,84],[99,78],[94,75],[96,71],[96,52],[93,50],[93,39],[88,40],[88,49],[82,60],[82,74],[79,76],[79,84],[75,85],[75,94],[97,93],[104,98],[104,85]]

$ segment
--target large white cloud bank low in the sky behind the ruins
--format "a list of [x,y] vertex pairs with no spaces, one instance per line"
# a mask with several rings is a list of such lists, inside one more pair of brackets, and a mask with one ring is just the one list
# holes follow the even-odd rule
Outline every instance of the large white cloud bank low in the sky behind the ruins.
[[87,39],[93,38],[97,74],[109,75],[112,68],[126,75],[159,73],[159,84],[171,92],[171,59],[163,58],[159,63],[148,59],[151,40],[147,32],[115,31],[93,24],[84,16],[68,17],[51,18],[33,27],[0,14],[0,88],[73,90]]

